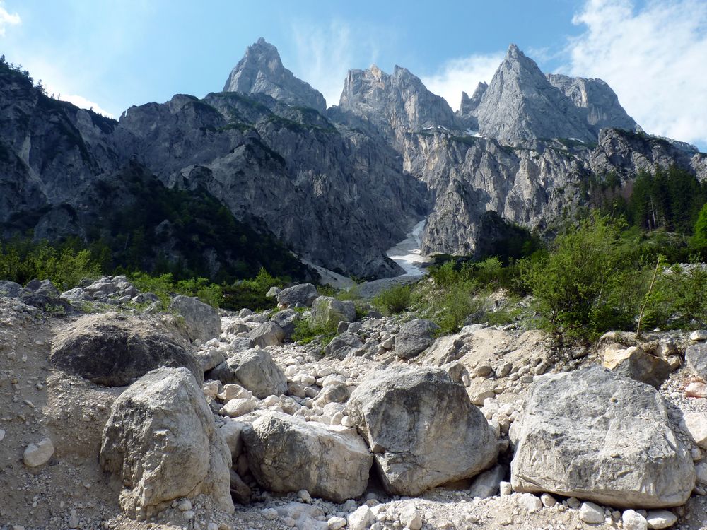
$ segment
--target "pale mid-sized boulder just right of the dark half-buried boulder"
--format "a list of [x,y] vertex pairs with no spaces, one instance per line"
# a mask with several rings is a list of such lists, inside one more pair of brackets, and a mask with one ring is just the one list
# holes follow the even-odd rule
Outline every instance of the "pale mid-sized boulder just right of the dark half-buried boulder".
[[235,353],[209,372],[210,379],[238,383],[260,399],[287,391],[287,379],[270,354],[260,348]]

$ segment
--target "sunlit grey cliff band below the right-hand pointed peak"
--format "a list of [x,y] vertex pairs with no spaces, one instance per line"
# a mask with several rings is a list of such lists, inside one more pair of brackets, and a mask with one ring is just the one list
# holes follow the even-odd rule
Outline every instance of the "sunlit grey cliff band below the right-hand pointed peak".
[[589,201],[592,174],[613,171],[628,182],[656,165],[677,165],[707,179],[705,153],[621,129],[603,129],[597,143],[533,141],[522,146],[436,131],[410,134],[404,152],[406,170],[419,175],[435,196],[423,251],[445,254],[476,254],[486,248],[482,228],[487,211],[540,232],[551,230]]

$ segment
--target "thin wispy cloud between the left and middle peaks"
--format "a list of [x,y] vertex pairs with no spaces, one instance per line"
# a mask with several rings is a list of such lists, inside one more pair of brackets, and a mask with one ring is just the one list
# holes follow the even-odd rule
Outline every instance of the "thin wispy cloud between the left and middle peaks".
[[[359,63],[375,62],[378,48],[372,38],[351,30],[341,20],[320,25],[298,20],[292,24],[295,64],[285,66],[319,90],[327,106],[339,105],[346,73]],[[363,59],[362,59],[363,58]]]

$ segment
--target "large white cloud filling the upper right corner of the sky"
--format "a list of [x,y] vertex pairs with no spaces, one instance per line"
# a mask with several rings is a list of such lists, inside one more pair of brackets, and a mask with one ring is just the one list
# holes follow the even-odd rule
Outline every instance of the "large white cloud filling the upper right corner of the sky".
[[646,131],[707,144],[707,2],[588,0],[573,22],[573,75],[607,81]]

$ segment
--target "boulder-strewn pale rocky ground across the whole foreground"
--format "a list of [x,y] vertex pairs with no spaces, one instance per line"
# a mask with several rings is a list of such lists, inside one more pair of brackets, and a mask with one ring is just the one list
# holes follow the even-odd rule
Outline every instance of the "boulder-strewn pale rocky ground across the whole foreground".
[[707,528],[707,334],[434,338],[307,287],[163,313],[122,282],[0,285],[2,529]]

